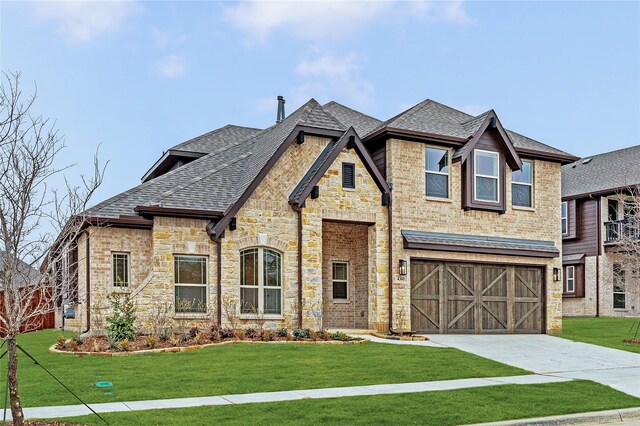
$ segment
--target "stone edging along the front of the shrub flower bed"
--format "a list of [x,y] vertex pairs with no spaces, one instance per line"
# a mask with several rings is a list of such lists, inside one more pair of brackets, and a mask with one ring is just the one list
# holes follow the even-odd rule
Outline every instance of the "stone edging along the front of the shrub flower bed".
[[303,340],[303,341],[296,341],[296,340],[290,340],[290,341],[286,341],[286,340],[277,340],[277,341],[273,341],[273,342],[259,342],[259,341],[253,341],[253,340],[230,340],[227,342],[219,342],[219,343],[205,343],[204,345],[198,345],[198,346],[172,346],[169,348],[157,348],[157,349],[143,349],[143,350],[139,350],[139,351],[128,351],[128,352],[81,352],[81,351],[63,351],[60,349],[57,349],[56,346],[57,344],[54,343],[53,345],[51,345],[49,347],[49,352],[54,353],[54,354],[63,354],[63,355],[75,355],[78,357],[83,357],[83,356],[102,356],[102,357],[115,357],[115,356],[137,356],[137,355],[150,355],[150,354],[159,354],[159,353],[176,353],[176,352],[185,352],[185,351],[193,351],[193,350],[198,350],[198,349],[204,349],[204,348],[212,348],[215,346],[221,346],[221,345],[241,345],[241,344],[259,344],[259,345],[289,345],[289,344],[296,344],[296,345],[354,345],[354,344],[360,344],[360,343],[365,343],[365,342],[369,342],[369,340],[366,339],[362,339],[362,340],[348,340],[348,341],[341,341],[341,340],[317,340],[315,342],[313,341],[308,341],[308,340]]

